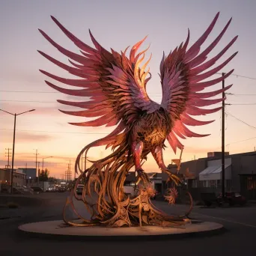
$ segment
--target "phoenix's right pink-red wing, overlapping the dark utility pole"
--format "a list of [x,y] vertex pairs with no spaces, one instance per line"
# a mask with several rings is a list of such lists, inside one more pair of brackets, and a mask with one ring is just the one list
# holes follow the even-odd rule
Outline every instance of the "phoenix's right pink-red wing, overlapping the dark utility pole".
[[227,86],[224,90],[211,91],[206,93],[198,93],[199,91],[204,90],[212,85],[216,85],[219,82],[222,82],[223,79],[226,79],[234,70],[226,73],[225,76],[221,76],[217,79],[213,79],[207,82],[201,82],[204,79],[213,76],[235,55],[231,55],[226,61],[220,64],[218,67],[213,68],[205,73],[204,70],[212,67],[213,64],[216,64],[216,61],[222,57],[222,55],[227,52],[227,50],[233,45],[237,37],[234,37],[228,45],[219,52],[214,58],[207,60],[207,55],[211,50],[219,43],[223,34],[228,28],[228,25],[231,23],[231,19],[228,24],[222,30],[216,40],[210,44],[203,52],[200,52],[201,45],[209,36],[210,32],[213,30],[214,25],[219,17],[219,13],[213,19],[213,22],[207,28],[207,31],[187,50],[189,44],[189,34],[186,39],[186,42],[181,43],[180,47],[174,49],[167,57],[163,55],[161,64],[160,64],[160,76],[162,82],[162,107],[167,109],[171,115],[171,121],[173,127],[171,133],[168,135],[168,142],[171,144],[174,152],[176,153],[177,147],[183,148],[183,144],[180,143],[177,136],[180,138],[186,137],[204,137],[207,135],[199,135],[195,132],[190,131],[188,126],[199,126],[204,124],[210,124],[213,121],[197,121],[191,117],[191,115],[207,115],[213,112],[219,111],[222,107],[216,109],[201,109],[202,106],[210,106],[216,103],[222,102],[225,99],[212,99],[207,100],[207,98],[222,94],[223,91],[231,88],[232,85]]

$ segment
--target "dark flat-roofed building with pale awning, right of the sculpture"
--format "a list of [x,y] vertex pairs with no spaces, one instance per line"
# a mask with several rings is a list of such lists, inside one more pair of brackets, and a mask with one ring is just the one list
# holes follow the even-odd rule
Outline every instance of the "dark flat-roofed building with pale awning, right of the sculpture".
[[[211,152],[208,157],[182,162],[180,174],[185,174],[187,168],[194,177],[187,180],[187,188],[193,198],[200,198],[201,192],[222,192],[222,154]],[[168,165],[173,173],[175,165]],[[167,174],[163,174],[162,183],[167,188]],[[240,192],[248,199],[256,199],[256,152],[225,153],[225,190]]]

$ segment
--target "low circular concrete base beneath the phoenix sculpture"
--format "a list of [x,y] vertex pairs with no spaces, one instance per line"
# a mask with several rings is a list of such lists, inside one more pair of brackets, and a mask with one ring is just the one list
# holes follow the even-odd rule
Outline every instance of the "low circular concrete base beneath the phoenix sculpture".
[[70,227],[65,226],[63,221],[34,222],[19,226],[23,231],[34,237],[48,237],[57,239],[74,240],[100,240],[100,239],[156,239],[161,237],[177,239],[189,236],[209,236],[219,234],[224,230],[223,226],[215,222],[192,222],[183,228],[170,228],[159,226],[142,226],[127,228],[106,228],[106,227]]

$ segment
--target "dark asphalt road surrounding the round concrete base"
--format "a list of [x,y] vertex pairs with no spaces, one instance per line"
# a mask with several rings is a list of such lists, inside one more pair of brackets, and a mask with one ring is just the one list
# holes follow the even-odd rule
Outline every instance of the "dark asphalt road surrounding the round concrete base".
[[[0,255],[255,255],[256,206],[201,209],[195,208],[192,217],[210,222],[219,222],[227,231],[214,237],[186,238],[183,240],[156,241],[66,241],[28,238],[17,227],[23,223],[61,219],[61,210],[66,193],[49,193],[47,207],[0,209],[0,216],[12,216],[0,220]],[[165,202],[156,205],[168,213],[180,208]],[[82,206],[79,206],[83,210]],[[182,209],[183,210],[183,209]]]

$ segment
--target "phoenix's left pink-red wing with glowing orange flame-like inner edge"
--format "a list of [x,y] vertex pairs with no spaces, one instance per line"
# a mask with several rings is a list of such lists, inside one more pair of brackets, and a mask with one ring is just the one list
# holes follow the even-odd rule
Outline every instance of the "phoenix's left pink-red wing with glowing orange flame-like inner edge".
[[148,60],[143,67],[139,67],[139,64],[141,64],[141,61],[144,59],[144,52],[146,52],[147,49],[135,55],[146,37],[132,47],[129,58],[127,58],[126,52],[128,47],[124,52],[121,52],[121,54],[115,52],[113,49],[112,52],[108,52],[97,43],[91,31],[89,31],[91,40],[96,48],[93,49],[91,46],[88,46],[76,38],[70,31],[67,31],[57,19],[54,17],[52,17],[52,19],[58,27],[61,28],[64,34],[81,49],[80,52],[82,55],[64,49],[41,30],[39,30],[40,33],[43,34],[43,37],[45,37],[49,43],[52,43],[55,48],[71,59],[69,59],[69,61],[73,67],[63,64],[43,52],[39,52],[49,61],[58,65],[58,67],[82,79],[64,79],[46,71],[40,71],[58,82],[82,88],[80,90],[65,89],[46,81],[47,85],[55,90],[73,96],[90,97],[90,100],[82,102],[58,100],[59,103],[64,105],[85,109],[75,112],[61,112],[86,118],[100,117],[93,121],[71,124],[82,127],[99,127],[105,124],[107,127],[112,127],[121,121],[124,127],[135,121],[141,111],[153,112],[155,109],[159,108],[157,103],[149,99],[145,91],[145,85],[150,77],[146,79],[149,70],[147,70],[147,72],[144,70],[150,60]]

